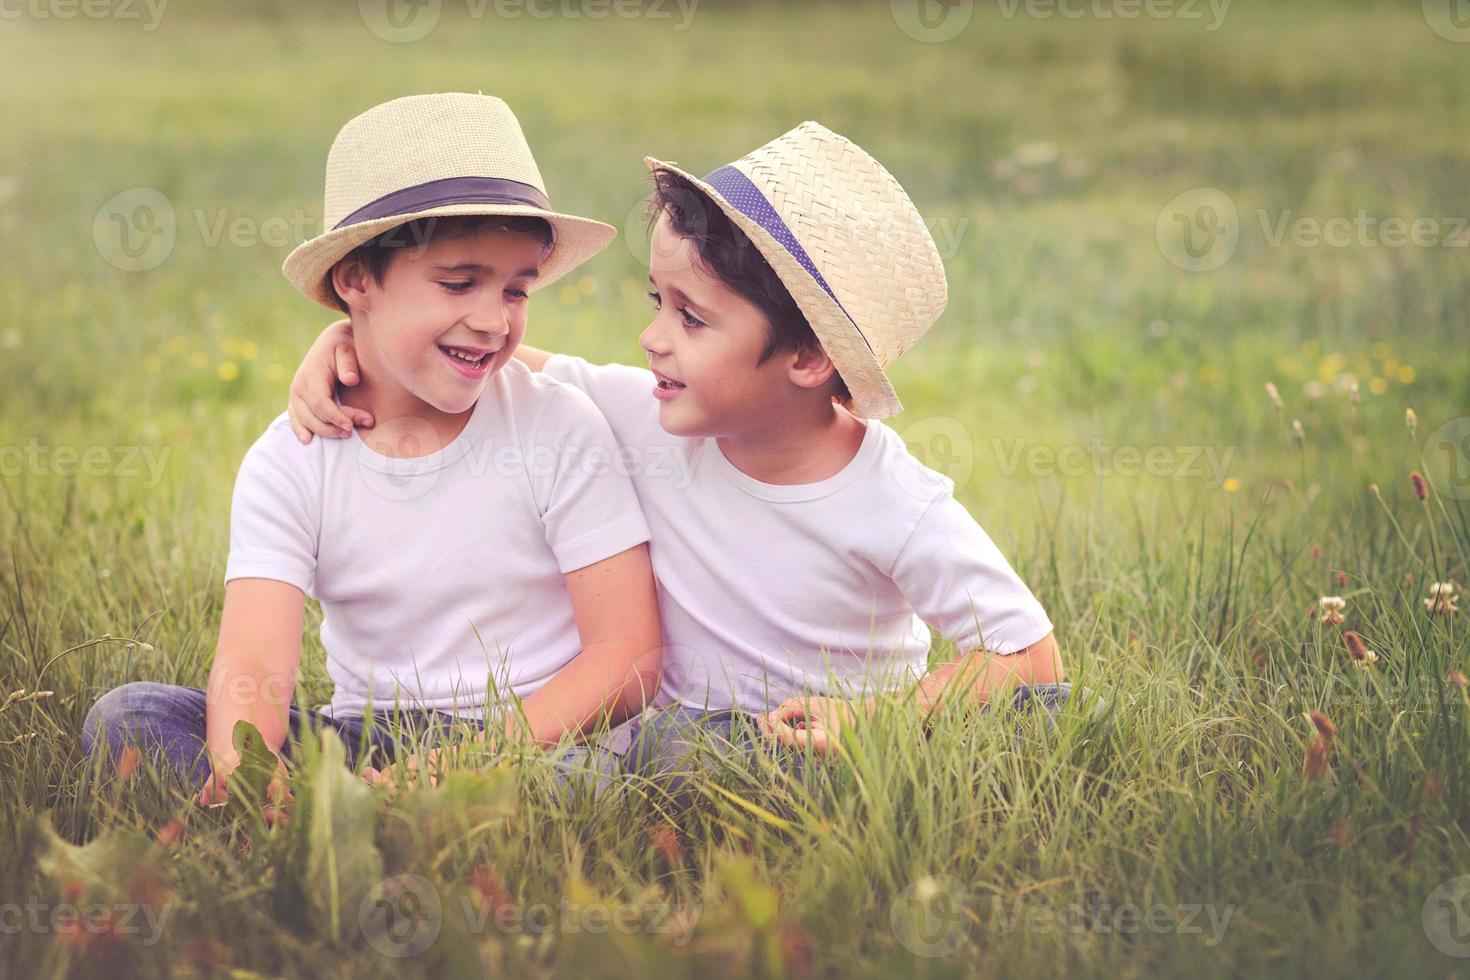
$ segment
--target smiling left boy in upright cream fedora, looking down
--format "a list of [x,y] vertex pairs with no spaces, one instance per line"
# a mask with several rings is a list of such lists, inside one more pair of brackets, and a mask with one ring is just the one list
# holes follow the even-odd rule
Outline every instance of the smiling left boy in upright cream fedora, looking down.
[[[375,419],[372,438],[301,445],[285,414],[270,423],[235,483],[209,689],[125,685],[84,727],[88,751],[162,752],[201,802],[225,796],[240,720],[278,757],[325,724],[354,761],[391,760],[385,727],[435,741],[484,721],[487,680],[519,699],[492,741],[541,745],[657,686],[647,523],[628,476],[597,464],[613,433],[588,395],[512,360],[529,294],[613,229],[556,212],[514,115],[467,94],[350,120],[325,215],[284,272],[351,317],[363,383],[343,408]],[[319,713],[290,704],[307,595],[334,682]]]

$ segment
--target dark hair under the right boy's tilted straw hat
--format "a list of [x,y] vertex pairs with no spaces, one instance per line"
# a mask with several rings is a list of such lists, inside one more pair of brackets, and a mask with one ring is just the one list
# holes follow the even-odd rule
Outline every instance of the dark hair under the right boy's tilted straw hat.
[[[754,303],[770,323],[770,339],[760,353],[757,364],[764,364],[781,353],[822,347],[801,307],[781,282],[781,276],[750,237],[710,200],[709,194],[682,173],[662,166],[654,167],[653,184],[653,200],[648,203],[650,223],[657,222],[660,215],[667,215],[673,234],[688,239],[700,262],[720,282]],[[832,373],[832,397],[851,408],[853,395],[836,372]]]

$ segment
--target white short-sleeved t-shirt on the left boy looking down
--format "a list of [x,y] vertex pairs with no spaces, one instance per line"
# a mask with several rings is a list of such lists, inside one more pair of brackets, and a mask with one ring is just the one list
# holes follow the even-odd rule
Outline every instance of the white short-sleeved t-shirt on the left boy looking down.
[[[415,435],[432,445],[432,430]],[[322,605],[331,714],[462,716],[529,695],[581,652],[564,574],[648,539],[617,445],[581,391],[512,361],[459,436],[415,458],[356,432],[301,445],[285,414],[240,464],[225,580]]]

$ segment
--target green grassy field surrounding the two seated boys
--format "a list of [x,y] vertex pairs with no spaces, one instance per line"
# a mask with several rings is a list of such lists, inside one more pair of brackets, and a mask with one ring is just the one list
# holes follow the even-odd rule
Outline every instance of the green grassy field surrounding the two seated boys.
[[[351,6],[144,29],[16,4],[0,973],[1464,973],[1470,645],[1426,598],[1470,582],[1470,48],[1417,3],[1238,0],[1214,29],[1122,6],[1001,3],[931,43],[891,4],[445,4],[390,43]],[[644,154],[703,172],[814,118],[882,159],[951,289],[892,425],[1108,710],[1019,746],[995,714],[928,742],[886,718],[813,786],[732,773],[673,811],[641,786],[554,807],[535,763],[387,802],[313,758],[266,830],[147,767],[96,777],[101,692],[207,674],[235,467],[323,322],[279,264],[332,134],[476,90],[560,207],[625,229],[532,304],[528,342],[594,359],[638,361]],[[1330,595],[1342,623],[1310,614]],[[435,930],[390,949],[417,955],[360,929],[379,879]]]

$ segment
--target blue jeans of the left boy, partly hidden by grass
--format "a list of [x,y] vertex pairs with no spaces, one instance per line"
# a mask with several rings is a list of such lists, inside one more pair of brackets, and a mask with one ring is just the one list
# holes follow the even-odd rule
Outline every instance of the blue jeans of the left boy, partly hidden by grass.
[[[126,745],[135,745],[144,757],[176,776],[187,789],[198,792],[209,780],[210,764],[204,752],[206,695],[200,688],[137,680],[113,688],[91,707],[82,723],[82,751],[93,755],[106,746],[115,764]],[[320,711],[290,707],[291,735],[281,746],[281,755],[291,758],[291,743],[319,729],[332,729],[347,748],[347,761],[354,768],[359,758],[365,765],[382,767],[397,758],[397,735],[413,735],[422,743],[444,739],[453,723],[470,724],[476,730],[481,718],[457,718],[445,711],[400,710],[378,711],[372,716],[332,718]]]

